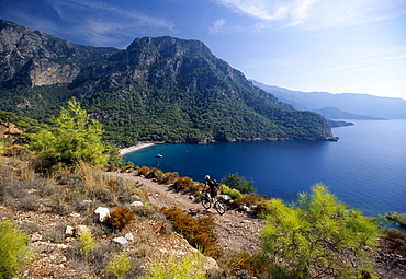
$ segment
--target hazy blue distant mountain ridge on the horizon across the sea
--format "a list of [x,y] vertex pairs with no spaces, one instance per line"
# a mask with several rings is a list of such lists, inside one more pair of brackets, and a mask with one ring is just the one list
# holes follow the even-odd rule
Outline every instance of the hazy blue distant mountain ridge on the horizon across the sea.
[[[366,94],[341,93],[331,94],[327,92],[302,92],[292,91],[274,85],[267,85],[258,81],[251,82],[270,94],[277,96],[281,102],[291,104],[296,109],[308,109],[314,112],[330,111],[325,117],[332,119],[405,119],[406,118],[406,100],[394,97],[380,97]],[[335,107],[336,113],[331,114]],[[323,112],[322,111],[322,112]],[[345,115],[342,114],[345,112]],[[345,118],[343,118],[345,117]]]

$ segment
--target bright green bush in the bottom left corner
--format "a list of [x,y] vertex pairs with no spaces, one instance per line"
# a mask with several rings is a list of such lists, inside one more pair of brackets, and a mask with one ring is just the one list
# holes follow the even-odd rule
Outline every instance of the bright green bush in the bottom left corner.
[[0,279],[18,276],[30,264],[29,235],[10,220],[0,221]]

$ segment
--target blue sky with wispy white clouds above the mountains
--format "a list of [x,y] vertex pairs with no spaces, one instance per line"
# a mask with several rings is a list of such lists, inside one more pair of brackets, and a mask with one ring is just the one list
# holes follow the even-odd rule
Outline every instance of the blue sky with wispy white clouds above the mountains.
[[1,0],[0,18],[91,46],[200,39],[266,84],[406,100],[406,0]]

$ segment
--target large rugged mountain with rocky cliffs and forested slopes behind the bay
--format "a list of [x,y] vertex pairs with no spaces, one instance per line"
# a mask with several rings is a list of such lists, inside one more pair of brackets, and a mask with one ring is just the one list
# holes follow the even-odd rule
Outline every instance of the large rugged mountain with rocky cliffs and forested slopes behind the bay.
[[324,117],[255,86],[199,40],[81,46],[0,21],[0,109],[45,120],[76,97],[117,144],[335,139]]

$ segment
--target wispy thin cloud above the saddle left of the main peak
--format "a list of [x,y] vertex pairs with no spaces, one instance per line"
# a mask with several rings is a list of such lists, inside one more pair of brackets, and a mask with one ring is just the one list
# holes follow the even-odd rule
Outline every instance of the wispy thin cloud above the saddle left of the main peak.
[[[121,43],[124,37],[135,38],[139,34],[156,31],[172,31],[174,25],[163,19],[94,0],[49,0],[59,19],[68,26],[66,34],[76,34],[82,40],[95,46]],[[127,43],[122,46],[126,47]]]

